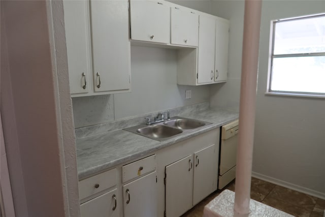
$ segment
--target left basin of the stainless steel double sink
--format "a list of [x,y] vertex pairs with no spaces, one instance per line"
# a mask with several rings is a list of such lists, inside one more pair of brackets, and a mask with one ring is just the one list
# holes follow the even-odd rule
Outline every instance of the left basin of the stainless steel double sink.
[[164,125],[152,125],[140,128],[137,132],[150,138],[167,138],[182,133],[182,130],[170,128]]

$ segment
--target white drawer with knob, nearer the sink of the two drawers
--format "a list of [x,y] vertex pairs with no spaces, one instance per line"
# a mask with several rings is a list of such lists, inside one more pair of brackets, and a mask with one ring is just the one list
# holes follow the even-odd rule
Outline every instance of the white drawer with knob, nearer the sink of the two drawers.
[[122,166],[122,182],[129,181],[156,169],[156,155]]

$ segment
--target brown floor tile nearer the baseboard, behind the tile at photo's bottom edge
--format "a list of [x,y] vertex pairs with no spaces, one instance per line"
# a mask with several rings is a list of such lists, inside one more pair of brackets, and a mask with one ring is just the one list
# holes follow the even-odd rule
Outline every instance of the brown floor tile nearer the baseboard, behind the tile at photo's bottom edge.
[[316,197],[306,195],[291,189],[287,189],[279,185],[276,185],[274,187],[268,197],[272,197],[277,200],[290,203],[292,205],[299,206],[311,211],[313,210],[317,200]]

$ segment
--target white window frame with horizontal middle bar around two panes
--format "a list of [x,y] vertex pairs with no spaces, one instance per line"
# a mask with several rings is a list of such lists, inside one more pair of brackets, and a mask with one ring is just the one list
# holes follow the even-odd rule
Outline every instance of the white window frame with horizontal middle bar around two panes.
[[[297,96],[297,97],[313,97],[313,98],[325,98],[325,92],[304,92],[304,91],[285,91],[285,90],[271,90],[271,82],[272,82],[272,72],[273,72],[273,59],[274,58],[283,58],[283,57],[313,57],[313,56],[325,56],[325,52],[309,52],[309,53],[290,53],[290,54],[274,54],[274,44],[275,44],[275,30],[276,24],[279,22],[285,21],[293,21],[300,20],[312,17],[324,16],[325,14],[315,14],[308,15],[303,17],[296,18],[287,18],[287,19],[277,19],[271,21],[271,33],[270,38],[270,54],[269,54],[269,73],[268,73],[268,83],[267,83],[267,91],[265,94],[267,95],[279,95],[279,96]],[[325,83],[324,83],[325,85]]]

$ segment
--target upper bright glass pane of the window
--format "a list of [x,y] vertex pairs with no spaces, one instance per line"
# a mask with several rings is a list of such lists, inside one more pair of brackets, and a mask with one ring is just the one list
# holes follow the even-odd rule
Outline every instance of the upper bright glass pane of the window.
[[276,22],[274,54],[325,52],[325,16]]

